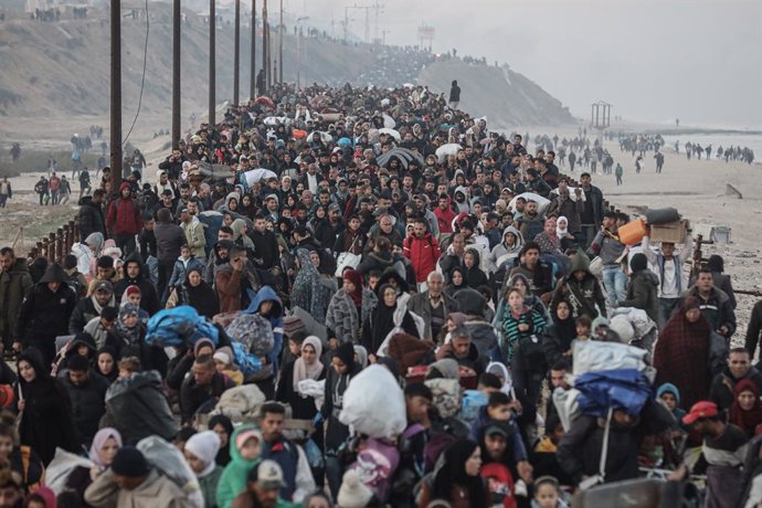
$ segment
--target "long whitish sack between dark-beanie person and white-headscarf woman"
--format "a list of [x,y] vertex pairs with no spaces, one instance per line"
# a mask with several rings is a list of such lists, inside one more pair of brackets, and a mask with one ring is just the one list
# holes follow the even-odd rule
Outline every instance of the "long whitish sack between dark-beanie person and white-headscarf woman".
[[186,498],[199,508],[204,508],[203,494],[195,474],[190,468],[182,453],[171,443],[159,436],[140,440],[137,448],[142,452],[146,462],[156,467],[160,474],[171,479],[186,493]]

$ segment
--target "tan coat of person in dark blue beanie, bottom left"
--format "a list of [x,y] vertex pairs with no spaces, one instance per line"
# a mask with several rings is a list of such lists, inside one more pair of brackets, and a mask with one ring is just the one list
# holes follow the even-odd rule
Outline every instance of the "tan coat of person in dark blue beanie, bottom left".
[[87,487],[85,501],[93,508],[194,508],[182,489],[156,469],[142,484],[128,490],[116,485],[108,468]]

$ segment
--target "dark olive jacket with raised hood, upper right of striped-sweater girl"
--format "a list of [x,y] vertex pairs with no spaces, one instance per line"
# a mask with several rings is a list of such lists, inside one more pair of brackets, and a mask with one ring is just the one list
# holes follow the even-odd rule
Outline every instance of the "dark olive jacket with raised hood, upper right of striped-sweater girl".
[[[582,281],[578,281],[575,272],[584,272]],[[599,315],[606,316],[606,298],[597,278],[590,273],[590,260],[582,251],[576,251],[572,257],[569,275],[555,284],[550,301],[551,316],[555,316],[555,308],[561,300],[569,301],[574,317],[588,316],[595,319]]]

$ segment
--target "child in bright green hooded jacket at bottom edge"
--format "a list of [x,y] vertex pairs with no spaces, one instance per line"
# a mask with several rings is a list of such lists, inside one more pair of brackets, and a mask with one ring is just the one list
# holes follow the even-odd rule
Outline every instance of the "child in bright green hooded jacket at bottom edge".
[[233,431],[230,440],[231,461],[222,472],[216,487],[216,505],[231,508],[233,499],[245,490],[248,472],[262,461],[262,433],[251,424]]

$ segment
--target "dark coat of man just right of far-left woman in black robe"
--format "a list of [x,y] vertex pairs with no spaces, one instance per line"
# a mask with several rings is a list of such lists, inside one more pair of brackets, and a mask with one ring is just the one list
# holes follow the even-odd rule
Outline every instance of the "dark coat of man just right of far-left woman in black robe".
[[68,398],[72,402],[72,419],[80,444],[89,446],[93,436],[98,432],[100,417],[106,413],[106,391],[108,381],[95,372],[87,373],[88,379],[82,385],[72,383],[68,373],[63,377]]

